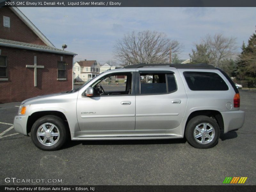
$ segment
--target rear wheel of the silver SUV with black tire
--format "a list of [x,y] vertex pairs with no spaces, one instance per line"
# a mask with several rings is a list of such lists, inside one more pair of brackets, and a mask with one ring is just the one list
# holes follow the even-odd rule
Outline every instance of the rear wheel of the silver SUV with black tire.
[[[198,130],[202,131],[200,132]],[[211,117],[196,116],[189,120],[185,130],[185,137],[188,143],[195,148],[212,148],[217,145],[220,138],[220,127]]]

